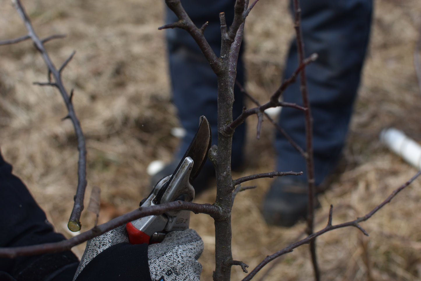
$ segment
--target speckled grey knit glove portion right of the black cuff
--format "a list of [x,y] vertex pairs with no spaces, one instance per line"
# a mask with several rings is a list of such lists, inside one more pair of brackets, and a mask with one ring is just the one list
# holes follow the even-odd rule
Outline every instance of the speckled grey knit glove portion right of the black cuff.
[[172,231],[158,244],[149,245],[149,271],[152,280],[200,280],[202,265],[197,259],[203,241],[193,229]]

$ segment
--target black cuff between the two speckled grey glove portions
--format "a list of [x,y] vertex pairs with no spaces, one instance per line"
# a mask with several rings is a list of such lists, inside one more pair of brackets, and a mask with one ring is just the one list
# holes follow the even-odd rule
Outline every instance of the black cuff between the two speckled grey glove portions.
[[76,281],[152,281],[148,266],[148,244],[119,243],[89,262]]

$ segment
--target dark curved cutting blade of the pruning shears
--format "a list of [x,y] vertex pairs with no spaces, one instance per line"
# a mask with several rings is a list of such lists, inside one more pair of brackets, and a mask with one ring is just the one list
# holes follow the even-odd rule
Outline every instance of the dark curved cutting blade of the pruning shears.
[[205,116],[200,116],[199,121],[199,128],[197,129],[197,132],[193,137],[189,148],[187,149],[183,158],[181,158],[181,161],[179,165],[177,165],[177,168],[173,172],[173,175],[171,176],[170,180],[159,190],[157,196],[155,197],[155,204],[160,203],[160,200],[165,190],[168,188],[169,183],[173,181],[176,172],[179,170],[181,164],[183,163],[186,157],[190,157],[193,159],[193,167],[189,177],[190,183],[192,183],[192,181],[200,173],[200,170],[203,168],[203,165],[205,165],[206,159],[208,158],[208,151],[212,144],[212,133],[210,131],[208,119],[206,119]]

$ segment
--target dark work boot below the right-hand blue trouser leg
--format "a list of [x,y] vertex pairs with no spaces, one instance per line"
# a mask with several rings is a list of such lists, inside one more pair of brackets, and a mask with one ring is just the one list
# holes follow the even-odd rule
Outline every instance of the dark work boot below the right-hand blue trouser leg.
[[[263,201],[263,217],[268,224],[291,227],[307,216],[307,183],[290,176],[275,179]],[[316,198],[316,206],[320,203]]]

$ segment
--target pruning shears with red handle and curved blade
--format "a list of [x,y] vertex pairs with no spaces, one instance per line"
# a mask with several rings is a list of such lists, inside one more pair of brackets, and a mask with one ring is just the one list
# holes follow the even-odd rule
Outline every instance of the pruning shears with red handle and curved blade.
[[[205,164],[212,142],[210,125],[205,116],[200,116],[199,129],[172,175],[158,181],[141,207],[182,200],[192,202],[195,189],[192,181]],[[168,211],[158,216],[145,216],[126,224],[130,243],[158,243],[174,230],[189,228],[190,211]]]

